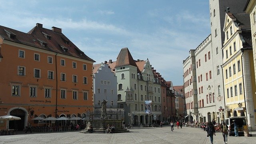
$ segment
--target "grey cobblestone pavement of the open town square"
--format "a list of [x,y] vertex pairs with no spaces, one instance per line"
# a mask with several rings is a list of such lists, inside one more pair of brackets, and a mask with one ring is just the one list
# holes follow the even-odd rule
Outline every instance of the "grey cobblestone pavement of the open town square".
[[[210,138],[200,128],[182,129],[133,128],[130,132],[114,134],[84,134],[78,131],[50,132],[0,136],[0,144],[210,144]],[[228,144],[256,144],[256,132],[252,137],[228,136]],[[214,144],[224,144],[222,133],[216,133]]]

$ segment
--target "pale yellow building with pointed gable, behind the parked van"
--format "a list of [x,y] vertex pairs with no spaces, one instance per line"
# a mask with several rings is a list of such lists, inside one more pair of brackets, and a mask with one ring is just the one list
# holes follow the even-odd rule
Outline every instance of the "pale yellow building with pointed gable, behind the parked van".
[[254,62],[249,14],[226,13],[223,50],[223,79],[225,113],[229,116],[248,116],[248,124],[254,115],[252,109],[255,92]]

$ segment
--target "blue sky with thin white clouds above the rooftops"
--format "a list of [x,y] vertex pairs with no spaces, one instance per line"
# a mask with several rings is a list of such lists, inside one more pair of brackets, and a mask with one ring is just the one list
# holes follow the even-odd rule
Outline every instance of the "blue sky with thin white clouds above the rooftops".
[[166,81],[183,84],[182,62],[210,34],[209,0],[0,0],[0,25],[62,28],[95,64],[128,47]]

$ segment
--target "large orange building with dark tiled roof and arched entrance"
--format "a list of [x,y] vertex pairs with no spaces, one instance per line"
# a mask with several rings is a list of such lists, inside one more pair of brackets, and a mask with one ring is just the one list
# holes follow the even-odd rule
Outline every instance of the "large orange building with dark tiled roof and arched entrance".
[[23,130],[40,116],[84,117],[93,110],[92,65],[60,28],[36,26],[28,33],[0,26],[0,129]]

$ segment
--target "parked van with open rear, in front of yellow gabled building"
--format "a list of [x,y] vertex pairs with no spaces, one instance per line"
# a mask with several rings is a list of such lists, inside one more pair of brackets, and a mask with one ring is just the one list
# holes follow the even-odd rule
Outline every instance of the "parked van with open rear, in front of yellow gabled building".
[[225,123],[228,126],[228,135],[229,136],[235,135],[233,123],[236,120],[236,123],[238,125],[238,135],[244,136],[244,126],[247,126],[246,118],[247,118],[246,116],[235,116],[235,117],[226,118]]

